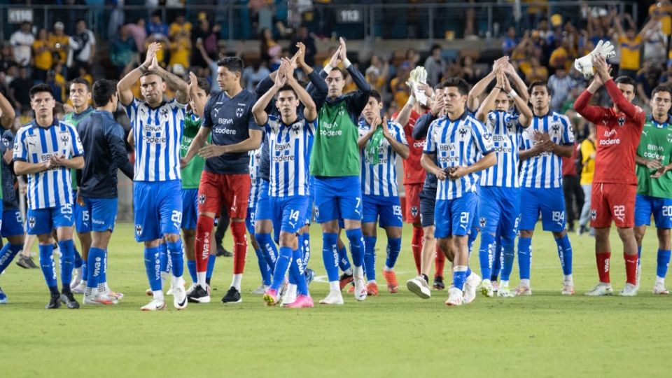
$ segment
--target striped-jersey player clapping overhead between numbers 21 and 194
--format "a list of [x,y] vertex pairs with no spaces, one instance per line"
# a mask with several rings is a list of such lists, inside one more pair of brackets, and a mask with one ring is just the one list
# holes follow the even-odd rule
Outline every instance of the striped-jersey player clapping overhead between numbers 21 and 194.
[[[513,258],[520,216],[518,182],[518,144],[523,130],[530,125],[532,111],[512,89],[502,66],[496,69],[496,85],[484,99],[476,119],[485,123],[493,137],[497,164],[483,171],[480,181],[479,226],[481,228],[481,291],[493,296],[490,281],[495,258],[494,244],[500,230],[505,256]],[[517,113],[510,113],[511,103]],[[510,261],[511,265],[513,260]],[[508,280],[508,279],[507,279]],[[498,291],[498,295],[506,291]]]

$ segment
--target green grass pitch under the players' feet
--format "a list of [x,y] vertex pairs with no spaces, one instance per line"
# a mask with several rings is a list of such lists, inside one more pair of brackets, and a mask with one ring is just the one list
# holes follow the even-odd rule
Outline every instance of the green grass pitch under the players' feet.
[[[415,275],[405,228],[399,258],[400,292],[356,302],[344,293],[339,307],[268,308],[249,291],[260,276],[248,253],[243,303],[219,302],[231,279],[231,258],[218,258],[210,304],[146,313],[142,248],[130,224],[112,237],[108,279],[125,298],[114,307],[45,310],[48,290],[39,269],[12,264],[0,277],[9,303],[0,306],[0,377],[669,377],[672,298],[654,297],[657,241],[645,239],[637,297],[584,297],[597,281],[593,240],[571,235],[577,295],[560,295],[556,246],[538,229],[533,239],[533,296],[477,297],[448,308],[447,292],[421,300],[405,288]],[[327,293],[321,237],[312,228],[309,266]],[[378,239],[378,270],[385,238]],[[477,241],[478,244],[478,241]],[[225,241],[230,246],[230,239]],[[624,285],[624,262],[612,232],[612,281]],[[479,272],[477,256],[471,267]],[[185,269],[185,274],[188,273]],[[379,283],[384,278],[378,272]],[[190,279],[187,278],[187,281]],[[450,279],[447,279],[449,282]],[[512,274],[516,285],[517,268]],[[672,286],[672,281],[671,281]],[[80,299],[80,298],[78,298]]]

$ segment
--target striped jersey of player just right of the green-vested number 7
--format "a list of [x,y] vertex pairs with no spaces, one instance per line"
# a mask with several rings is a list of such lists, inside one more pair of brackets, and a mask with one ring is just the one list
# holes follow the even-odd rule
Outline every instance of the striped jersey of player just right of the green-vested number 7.
[[[363,137],[369,130],[369,125],[365,119],[359,121],[359,137]],[[406,134],[401,125],[395,122],[387,122],[390,135],[399,143],[408,146]],[[366,142],[369,146],[371,140]],[[390,142],[382,139],[378,148],[378,164],[374,165],[366,153],[366,147],[361,151],[362,172],[360,181],[362,183],[363,195],[381,195],[383,197],[398,197],[397,190],[397,153],[394,152]]]

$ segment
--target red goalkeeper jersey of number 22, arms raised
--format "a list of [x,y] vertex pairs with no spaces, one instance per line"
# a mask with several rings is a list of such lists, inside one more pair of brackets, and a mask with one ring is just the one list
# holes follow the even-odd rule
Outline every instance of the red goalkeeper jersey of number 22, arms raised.
[[614,108],[589,106],[592,94],[588,90],[584,90],[574,102],[574,109],[595,124],[597,152],[593,183],[637,185],[635,155],[646,114],[625,99],[614,80],[607,81],[605,87],[618,107],[618,113]]

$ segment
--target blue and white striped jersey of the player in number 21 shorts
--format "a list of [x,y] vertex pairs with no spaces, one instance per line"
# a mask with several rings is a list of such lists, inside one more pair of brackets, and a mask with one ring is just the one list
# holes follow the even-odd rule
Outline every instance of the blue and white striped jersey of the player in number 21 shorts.
[[[480,160],[480,154],[493,152],[492,135],[486,127],[467,113],[457,120],[442,117],[429,127],[423,153],[436,154],[437,165],[442,169],[468,167]],[[462,176],[460,179],[439,180],[436,199],[454,200],[464,193],[475,192],[478,173]]]

